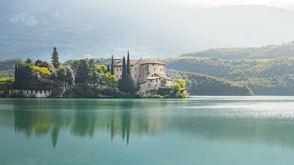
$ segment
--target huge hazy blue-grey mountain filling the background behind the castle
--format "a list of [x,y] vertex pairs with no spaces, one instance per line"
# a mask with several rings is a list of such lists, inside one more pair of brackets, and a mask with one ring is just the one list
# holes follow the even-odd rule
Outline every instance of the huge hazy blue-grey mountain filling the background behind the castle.
[[[187,7],[188,6],[188,7]],[[240,5],[202,8],[153,0],[9,0],[0,6],[0,60],[61,61],[122,55],[177,56],[216,47],[255,47],[294,39],[294,14]]]

